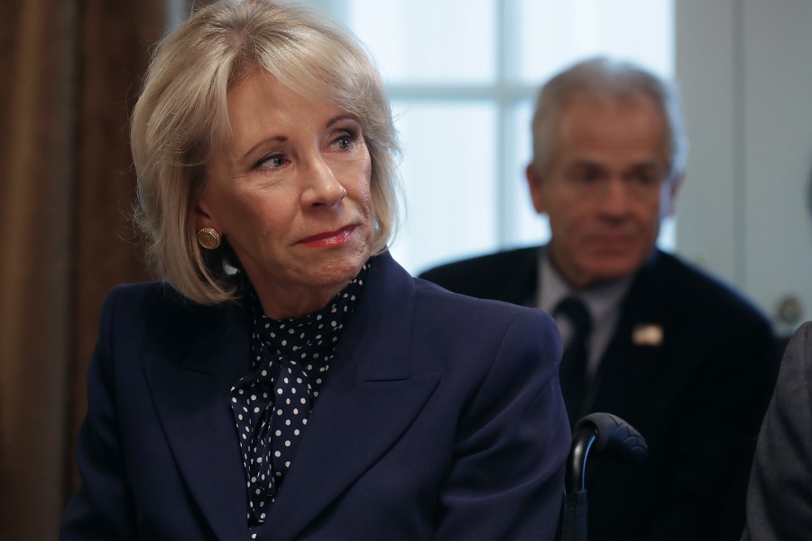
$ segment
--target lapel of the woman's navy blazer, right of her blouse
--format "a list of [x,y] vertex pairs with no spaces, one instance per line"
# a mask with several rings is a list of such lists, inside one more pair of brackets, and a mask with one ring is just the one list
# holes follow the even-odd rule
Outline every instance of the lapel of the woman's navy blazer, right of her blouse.
[[407,430],[437,387],[438,375],[409,374],[413,288],[391,257],[375,258],[268,516],[274,539],[307,527]]

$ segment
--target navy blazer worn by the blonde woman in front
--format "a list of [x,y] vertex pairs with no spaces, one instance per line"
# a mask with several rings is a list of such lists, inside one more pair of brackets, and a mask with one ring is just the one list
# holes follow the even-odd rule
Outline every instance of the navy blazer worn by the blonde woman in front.
[[[569,446],[539,310],[374,259],[260,539],[551,539]],[[248,538],[229,389],[239,304],[136,284],[106,299],[62,538]]]

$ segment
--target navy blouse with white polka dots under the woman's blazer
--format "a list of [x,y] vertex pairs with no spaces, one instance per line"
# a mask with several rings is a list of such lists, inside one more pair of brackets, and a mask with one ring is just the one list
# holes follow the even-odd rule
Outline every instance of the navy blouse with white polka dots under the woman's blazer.
[[272,320],[256,294],[250,294],[254,371],[231,388],[249,526],[263,524],[291,466],[367,269],[368,264],[325,308],[300,319]]

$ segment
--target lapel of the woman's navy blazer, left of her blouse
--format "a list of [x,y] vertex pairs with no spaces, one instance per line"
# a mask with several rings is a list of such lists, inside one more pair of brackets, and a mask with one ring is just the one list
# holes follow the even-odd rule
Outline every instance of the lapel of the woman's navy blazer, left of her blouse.
[[246,539],[245,471],[229,390],[250,370],[248,333],[233,310],[210,309],[208,315],[189,325],[198,331],[188,337],[192,345],[185,359],[148,354],[145,369],[171,451],[201,515],[218,538]]

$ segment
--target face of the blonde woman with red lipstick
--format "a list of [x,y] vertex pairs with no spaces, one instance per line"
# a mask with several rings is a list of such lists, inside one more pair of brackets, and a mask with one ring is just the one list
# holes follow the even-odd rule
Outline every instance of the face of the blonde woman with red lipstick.
[[232,136],[209,157],[198,229],[228,239],[274,319],[324,307],[370,257],[361,125],[257,70],[228,91]]

